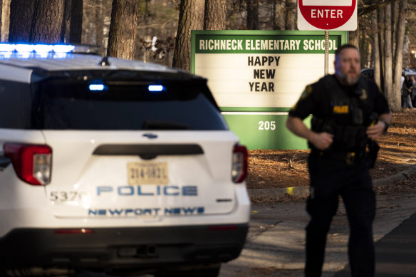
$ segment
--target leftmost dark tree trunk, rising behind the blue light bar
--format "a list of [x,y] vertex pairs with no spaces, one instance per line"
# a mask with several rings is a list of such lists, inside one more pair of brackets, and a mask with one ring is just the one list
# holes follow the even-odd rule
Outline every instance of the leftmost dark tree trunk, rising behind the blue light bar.
[[9,42],[29,41],[34,10],[35,1],[11,0]]

